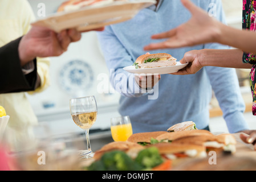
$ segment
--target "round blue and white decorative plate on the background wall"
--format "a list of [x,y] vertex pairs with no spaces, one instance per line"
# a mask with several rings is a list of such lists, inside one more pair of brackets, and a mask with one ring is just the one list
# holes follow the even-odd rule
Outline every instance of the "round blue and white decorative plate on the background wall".
[[82,60],[72,60],[65,64],[59,73],[60,87],[73,97],[82,97],[92,88],[94,72]]

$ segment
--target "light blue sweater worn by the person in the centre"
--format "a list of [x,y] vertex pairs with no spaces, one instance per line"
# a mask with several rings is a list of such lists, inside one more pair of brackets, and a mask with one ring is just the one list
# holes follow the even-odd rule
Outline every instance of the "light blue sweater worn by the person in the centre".
[[[215,14],[218,20],[225,23],[221,1],[193,0],[193,3]],[[235,69],[205,67],[194,75],[162,75],[157,85],[158,92],[134,92],[139,86],[135,84],[131,73],[125,72],[123,68],[132,65],[137,57],[146,53],[143,51],[144,46],[159,41],[151,39],[153,34],[168,31],[189,19],[190,13],[180,1],[164,0],[157,11],[141,10],[135,18],[105,27],[105,31],[98,33],[107,67],[111,70],[111,84],[121,93],[119,112],[121,115],[129,115],[133,133],[166,131],[170,126],[184,121],[194,121],[198,129],[204,129],[209,125],[212,90],[224,113],[229,132],[249,128],[243,117],[245,104]],[[228,47],[205,44],[151,53],[166,52],[181,60],[186,52],[204,48]],[[120,85],[123,85],[121,89]],[[154,96],[155,99],[150,99],[149,96]]]

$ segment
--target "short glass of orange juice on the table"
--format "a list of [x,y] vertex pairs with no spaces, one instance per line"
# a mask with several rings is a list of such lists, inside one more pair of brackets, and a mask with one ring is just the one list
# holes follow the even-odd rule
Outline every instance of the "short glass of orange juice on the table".
[[129,116],[111,118],[111,134],[115,142],[124,142],[132,135]]

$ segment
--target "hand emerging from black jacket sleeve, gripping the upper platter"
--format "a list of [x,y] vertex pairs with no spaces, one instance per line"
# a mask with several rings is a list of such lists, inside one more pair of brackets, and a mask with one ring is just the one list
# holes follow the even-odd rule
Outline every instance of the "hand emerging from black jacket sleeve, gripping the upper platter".
[[[104,28],[95,30],[101,31]],[[63,30],[57,34],[48,28],[33,26],[19,43],[21,65],[27,64],[35,57],[60,56],[67,51],[70,43],[78,42],[81,37],[81,32],[75,28]]]

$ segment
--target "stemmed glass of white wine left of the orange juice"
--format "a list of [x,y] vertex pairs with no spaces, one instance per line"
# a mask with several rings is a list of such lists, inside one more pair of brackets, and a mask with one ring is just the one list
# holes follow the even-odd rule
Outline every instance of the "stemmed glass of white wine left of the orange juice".
[[87,139],[87,150],[81,151],[83,159],[92,158],[89,130],[97,118],[97,104],[94,96],[72,98],[70,100],[70,113],[76,125],[84,130]]

